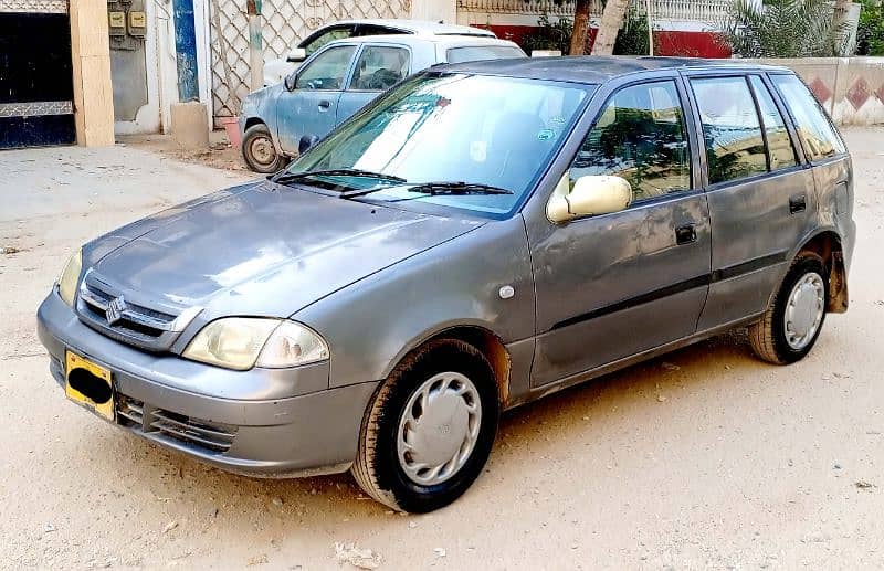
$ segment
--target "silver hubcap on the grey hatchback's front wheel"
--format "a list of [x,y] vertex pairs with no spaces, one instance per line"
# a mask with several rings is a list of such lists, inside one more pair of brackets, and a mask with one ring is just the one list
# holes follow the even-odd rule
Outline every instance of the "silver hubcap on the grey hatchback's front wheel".
[[466,464],[481,424],[473,382],[459,372],[435,374],[414,391],[399,420],[399,465],[417,484],[445,482]]

